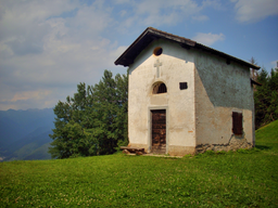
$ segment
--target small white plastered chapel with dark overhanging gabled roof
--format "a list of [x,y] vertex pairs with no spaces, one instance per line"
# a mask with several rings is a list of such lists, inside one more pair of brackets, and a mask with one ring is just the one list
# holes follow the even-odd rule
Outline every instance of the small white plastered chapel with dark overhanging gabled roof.
[[115,64],[128,66],[129,147],[184,156],[254,146],[258,66],[152,27]]

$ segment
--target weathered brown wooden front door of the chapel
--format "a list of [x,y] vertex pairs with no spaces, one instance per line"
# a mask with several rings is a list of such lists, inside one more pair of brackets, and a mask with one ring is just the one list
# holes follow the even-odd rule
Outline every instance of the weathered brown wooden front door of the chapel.
[[166,109],[152,113],[152,153],[166,154]]

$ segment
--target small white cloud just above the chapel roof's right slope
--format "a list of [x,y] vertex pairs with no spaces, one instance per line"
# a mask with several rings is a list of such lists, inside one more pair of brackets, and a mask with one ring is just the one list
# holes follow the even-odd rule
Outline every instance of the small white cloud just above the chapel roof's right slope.
[[195,37],[192,38],[192,40],[195,40],[197,42],[200,42],[205,46],[212,46],[213,43],[217,41],[225,40],[225,36],[223,34],[202,34],[198,32]]

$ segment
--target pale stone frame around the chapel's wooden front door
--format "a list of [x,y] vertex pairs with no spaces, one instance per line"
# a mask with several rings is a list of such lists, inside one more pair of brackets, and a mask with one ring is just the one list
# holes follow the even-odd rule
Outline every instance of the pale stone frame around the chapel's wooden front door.
[[148,153],[151,153],[152,148],[152,110],[165,109],[166,112],[166,154],[168,154],[168,142],[169,142],[169,110],[168,106],[149,106],[148,107]]

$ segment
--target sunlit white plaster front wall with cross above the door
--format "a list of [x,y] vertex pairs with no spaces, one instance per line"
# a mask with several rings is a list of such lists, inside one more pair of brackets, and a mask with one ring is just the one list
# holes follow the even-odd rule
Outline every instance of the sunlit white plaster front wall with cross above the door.
[[[163,48],[160,56],[153,55]],[[159,60],[160,77],[154,63]],[[163,81],[165,94],[152,94],[152,86]],[[188,82],[180,90],[179,82]],[[166,40],[153,41],[129,66],[128,136],[132,146],[151,145],[150,108],[167,107],[166,145],[195,146],[194,64],[190,50]],[[169,150],[169,148],[167,148]]]

